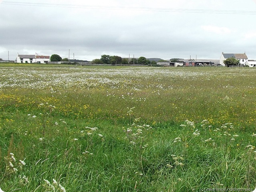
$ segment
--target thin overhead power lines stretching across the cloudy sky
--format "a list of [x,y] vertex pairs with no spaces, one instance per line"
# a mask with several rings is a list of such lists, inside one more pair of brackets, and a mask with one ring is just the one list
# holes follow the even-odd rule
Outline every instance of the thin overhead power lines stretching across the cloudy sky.
[[256,11],[241,10],[206,10],[206,9],[171,9],[171,8],[149,8],[149,7],[123,7],[123,6],[92,6],[78,4],[54,4],[54,3],[30,3],[30,2],[8,2],[2,4],[20,5],[20,6],[39,6],[39,7],[60,7],[60,8],[83,8],[83,9],[109,9],[109,10],[133,10],[133,11],[151,11],[151,12],[185,12],[185,13],[207,13],[207,14],[244,14],[255,15]]

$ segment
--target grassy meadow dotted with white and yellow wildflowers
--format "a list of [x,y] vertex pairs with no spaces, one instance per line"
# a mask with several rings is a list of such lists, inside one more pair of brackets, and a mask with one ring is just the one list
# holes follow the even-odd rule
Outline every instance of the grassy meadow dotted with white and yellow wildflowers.
[[256,69],[0,65],[5,192],[256,188]]

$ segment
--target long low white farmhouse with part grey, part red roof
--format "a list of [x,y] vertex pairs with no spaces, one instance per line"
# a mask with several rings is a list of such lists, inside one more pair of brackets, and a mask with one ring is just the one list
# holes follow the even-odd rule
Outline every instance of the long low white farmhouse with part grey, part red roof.
[[50,56],[42,55],[19,55],[17,56],[17,63],[48,63]]

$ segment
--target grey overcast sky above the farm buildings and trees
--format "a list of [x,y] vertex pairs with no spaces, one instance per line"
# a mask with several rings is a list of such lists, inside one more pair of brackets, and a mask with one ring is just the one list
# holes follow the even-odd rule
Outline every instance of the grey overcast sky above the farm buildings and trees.
[[0,0],[0,58],[256,60],[256,0]]

